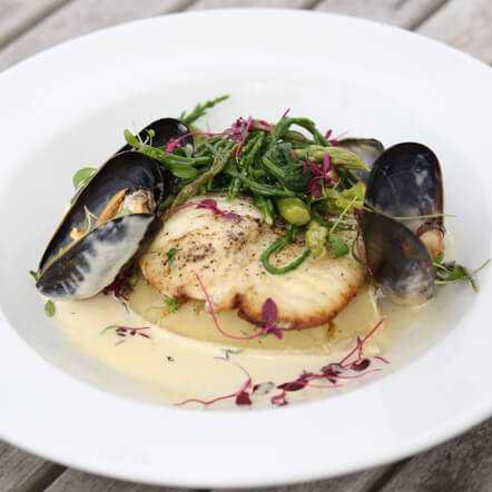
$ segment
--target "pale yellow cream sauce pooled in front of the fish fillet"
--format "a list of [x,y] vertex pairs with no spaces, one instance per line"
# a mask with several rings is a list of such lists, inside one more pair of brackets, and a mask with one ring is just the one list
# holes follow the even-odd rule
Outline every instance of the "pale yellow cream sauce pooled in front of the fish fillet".
[[[278,385],[305,371],[318,372],[327,363],[340,362],[355,346],[356,336],[367,334],[382,316],[374,293],[365,287],[331,326],[284,332],[282,341],[267,335],[244,342],[220,335],[203,305],[187,303],[168,316],[163,316],[165,309],[158,306],[163,307],[163,297],[149,293],[139,283],[130,307],[105,295],[57,302],[56,321],[78,350],[139,382],[158,395],[159,401],[178,404],[188,398],[211,400],[236,393],[247,380],[242,367],[250,375],[252,384]],[[393,325],[400,325],[393,321],[398,318],[400,311],[394,311],[364,345],[364,355],[386,353],[394,340]],[[254,329],[234,312],[218,316],[220,326],[228,333],[240,335]],[[146,329],[118,334],[115,327],[105,329],[109,326]],[[376,366],[388,370],[381,361],[373,360],[371,368]],[[325,397],[372,377],[344,381],[337,388],[305,387],[289,392],[288,402]],[[325,381],[318,384],[327,385]],[[273,387],[268,394],[258,393],[253,394],[253,403],[264,406],[270,405],[272,396],[279,391]],[[203,405],[190,402],[187,406]],[[214,403],[213,407],[238,406],[232,397]]]

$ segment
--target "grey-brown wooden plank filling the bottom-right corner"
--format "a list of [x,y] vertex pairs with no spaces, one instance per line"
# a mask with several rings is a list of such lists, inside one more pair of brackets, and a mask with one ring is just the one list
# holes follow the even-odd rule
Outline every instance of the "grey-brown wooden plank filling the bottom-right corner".
[[492,419],[410,460],[382,492],[492,490]]

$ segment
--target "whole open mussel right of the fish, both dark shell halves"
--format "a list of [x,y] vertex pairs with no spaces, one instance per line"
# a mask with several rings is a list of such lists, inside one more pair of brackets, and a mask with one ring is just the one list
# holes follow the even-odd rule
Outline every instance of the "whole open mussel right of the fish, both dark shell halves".
[[435,154],[397,144],[374,163],[362,219],[367,266],[398,304],[423,304],[435,293],[432,256],[444,248],[443,180]]

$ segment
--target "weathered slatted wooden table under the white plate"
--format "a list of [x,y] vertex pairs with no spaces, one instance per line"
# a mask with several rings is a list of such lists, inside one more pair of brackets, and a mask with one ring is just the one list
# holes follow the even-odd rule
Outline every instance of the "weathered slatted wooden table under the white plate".
[[[60,41],[106,26],[167,12],[218,7],[289,7],[374,19],[442,40],[492,63],[492,0],[0,0],[0,70]],[[0,492],[42,490],[145,492],[173,489],[81,473],[0,442]],[[397,463],[340,479],[272,490],[490,492],[492,420],[446,444]]]

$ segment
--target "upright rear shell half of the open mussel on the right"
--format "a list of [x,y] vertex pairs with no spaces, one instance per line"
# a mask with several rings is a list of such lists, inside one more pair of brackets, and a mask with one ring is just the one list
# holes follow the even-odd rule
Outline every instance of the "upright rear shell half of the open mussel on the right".
[[[370,207],[402,222],[415,234],[430,222],[442,228],[443,178],[437,157],[422,144],[390,147],[373,165],[365,200]],[[437,217],[430,219],[429,216]]]

